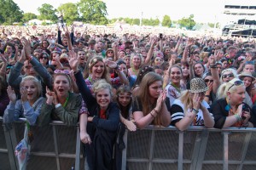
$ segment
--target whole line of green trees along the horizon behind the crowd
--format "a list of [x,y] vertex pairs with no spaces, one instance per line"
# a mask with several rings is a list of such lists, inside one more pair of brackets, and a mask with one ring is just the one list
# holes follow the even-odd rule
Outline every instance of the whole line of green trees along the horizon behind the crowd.
[[[62,15],[64,22],[71,25],[73,21],[82,21],[92,25],[108,25],[113,24],[117,20],[124,20],[130,25],[140,25],[139,19],[131,18],[115,18],[108,20],[108,10],[106,3],[100,0],[80,0],[78,3],[64,3],[58,8],[54,8],[49,3],[42,4],[38,8],[39,15],[32,13],[24,13],[13,0],[0,0],[0,24],[12,25],[14,22],[19,22],[21,25],[32,19],[50,20],[53,23],[58,21],[58,16]],[[181,20],[175,21],[181,27],[186,27],[191,30],[195,26],[194,15],[183,17]],[[159,19],[143,19],[143,26],[172,26],[170,16],[165,15],[163,20]],[[212,26],[210,23],[209,26]]]

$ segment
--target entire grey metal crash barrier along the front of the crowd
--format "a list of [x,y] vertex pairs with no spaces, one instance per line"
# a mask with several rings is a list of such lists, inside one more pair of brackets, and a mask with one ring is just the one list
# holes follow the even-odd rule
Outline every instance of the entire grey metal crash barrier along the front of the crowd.
[[[24,122],[15,122],[11,130],[0,129],[0,170],[18,169],[14,151],[24,127]],[[32,132],[27,169],[84,169],[79,127],[53,122],[48,127],[33,127]],[[175,127],[149,126],[133,133],[126,130],[124,141],[123,170],[256,169],[256,128],[190,127],[180,132]]]

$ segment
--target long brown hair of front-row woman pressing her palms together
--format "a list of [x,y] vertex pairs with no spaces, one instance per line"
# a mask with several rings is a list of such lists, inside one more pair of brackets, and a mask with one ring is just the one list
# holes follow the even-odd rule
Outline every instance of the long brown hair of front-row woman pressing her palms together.
[[[154,73],[154,72],[148,72],[144,77],[143,81],[140,83],[140,89],[137,97],[141,100],[143,105],[143,116],[146,116],[149,114],[150,111],[152,111],[156,105],[157,99],[155,99],[154,104],[150,102],[150,94],[149,94],[149,86],[154,82],[163,82],[162,77],[160,75]],[[138,104],[138,103],[137,103]],[[160,125],[160,116],[157,115],[154,118],[154,125]]]

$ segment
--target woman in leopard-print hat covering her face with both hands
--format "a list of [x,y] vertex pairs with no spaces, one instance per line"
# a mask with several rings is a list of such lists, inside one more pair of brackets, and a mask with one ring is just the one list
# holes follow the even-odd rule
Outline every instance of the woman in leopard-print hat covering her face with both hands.
[[175,99],[172,108],[172,125],[179,130],[186,130],[189,126],[205,126],[211,128],[214,125],[210,106],[204,100],[208,88],[201,78],[193,78],[190,82],[190,90],[183,91],[178,99]]

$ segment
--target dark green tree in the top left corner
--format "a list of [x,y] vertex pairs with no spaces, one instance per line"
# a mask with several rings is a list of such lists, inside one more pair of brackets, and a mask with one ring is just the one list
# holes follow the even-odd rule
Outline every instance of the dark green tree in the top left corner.
[[0,23],[20,22],[23,11],[13,0],[0,0]]

